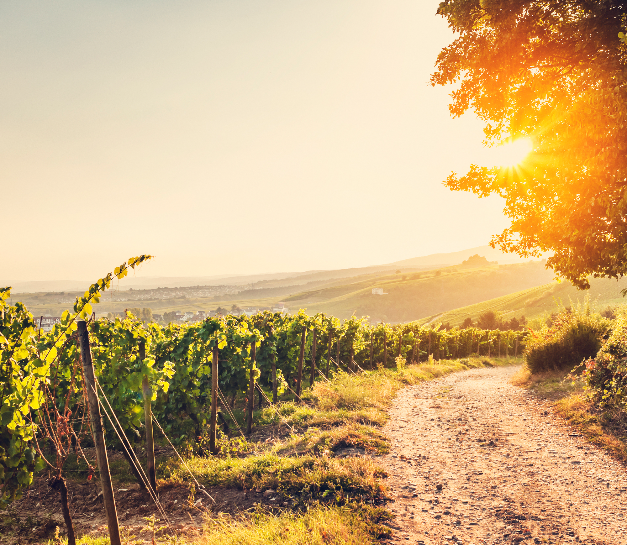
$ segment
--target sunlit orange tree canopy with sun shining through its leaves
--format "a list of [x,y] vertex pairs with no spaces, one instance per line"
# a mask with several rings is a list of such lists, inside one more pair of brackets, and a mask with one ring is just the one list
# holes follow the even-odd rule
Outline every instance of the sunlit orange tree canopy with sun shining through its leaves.
[[579,288],[627,271],[626,0],[445,0],[458,33],[432,85],[455,84],[488,145],[529,138],[515,166],[470,165],[445,185],[505,199],[510,227],[492,247],[547,260]]

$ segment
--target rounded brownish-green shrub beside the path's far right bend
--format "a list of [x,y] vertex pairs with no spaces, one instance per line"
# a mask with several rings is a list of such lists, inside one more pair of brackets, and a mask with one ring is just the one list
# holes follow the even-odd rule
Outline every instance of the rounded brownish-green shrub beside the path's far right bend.
[[562,311],[555,316],[551,329],[543,326],[527,338],[524,356],[527,367],[535,375],[551,370],[564,370],[593,358],[601,341],[611,331],[611,322],[589,311]]

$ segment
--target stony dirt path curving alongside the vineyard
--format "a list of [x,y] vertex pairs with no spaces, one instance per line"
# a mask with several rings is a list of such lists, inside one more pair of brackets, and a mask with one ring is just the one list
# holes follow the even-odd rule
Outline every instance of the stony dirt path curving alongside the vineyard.
[[393,541],[627,543],[627,470],[510,385],[518,369],[399,392],[384,428],[391,453],[377,458],[394,494]]

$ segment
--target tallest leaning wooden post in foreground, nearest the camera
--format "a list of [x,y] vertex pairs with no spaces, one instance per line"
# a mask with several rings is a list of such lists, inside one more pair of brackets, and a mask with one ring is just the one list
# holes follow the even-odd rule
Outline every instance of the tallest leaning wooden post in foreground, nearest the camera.
[[87,399],[89,402],[93,444],[96,449],[98,472],[100,472],[102,499],[105,504],[109,539],[111,540],[111,545],[122,545],[122,540],[120,539],[120,526],[118,523],[117,511],[115,509],[115,497],[113,497],[111,473],[109,472],[109,460],[107,459],[105,434],[102,429],[102,415],[100,415],[100,405],[98,404],[98,395],[96,392],[96,378],[93,370],[92,349],[89,346],[87,322],[80,321],[77,325],[80,353],[83,360],[83,373],[85,375],[85,383],[87,385]]

